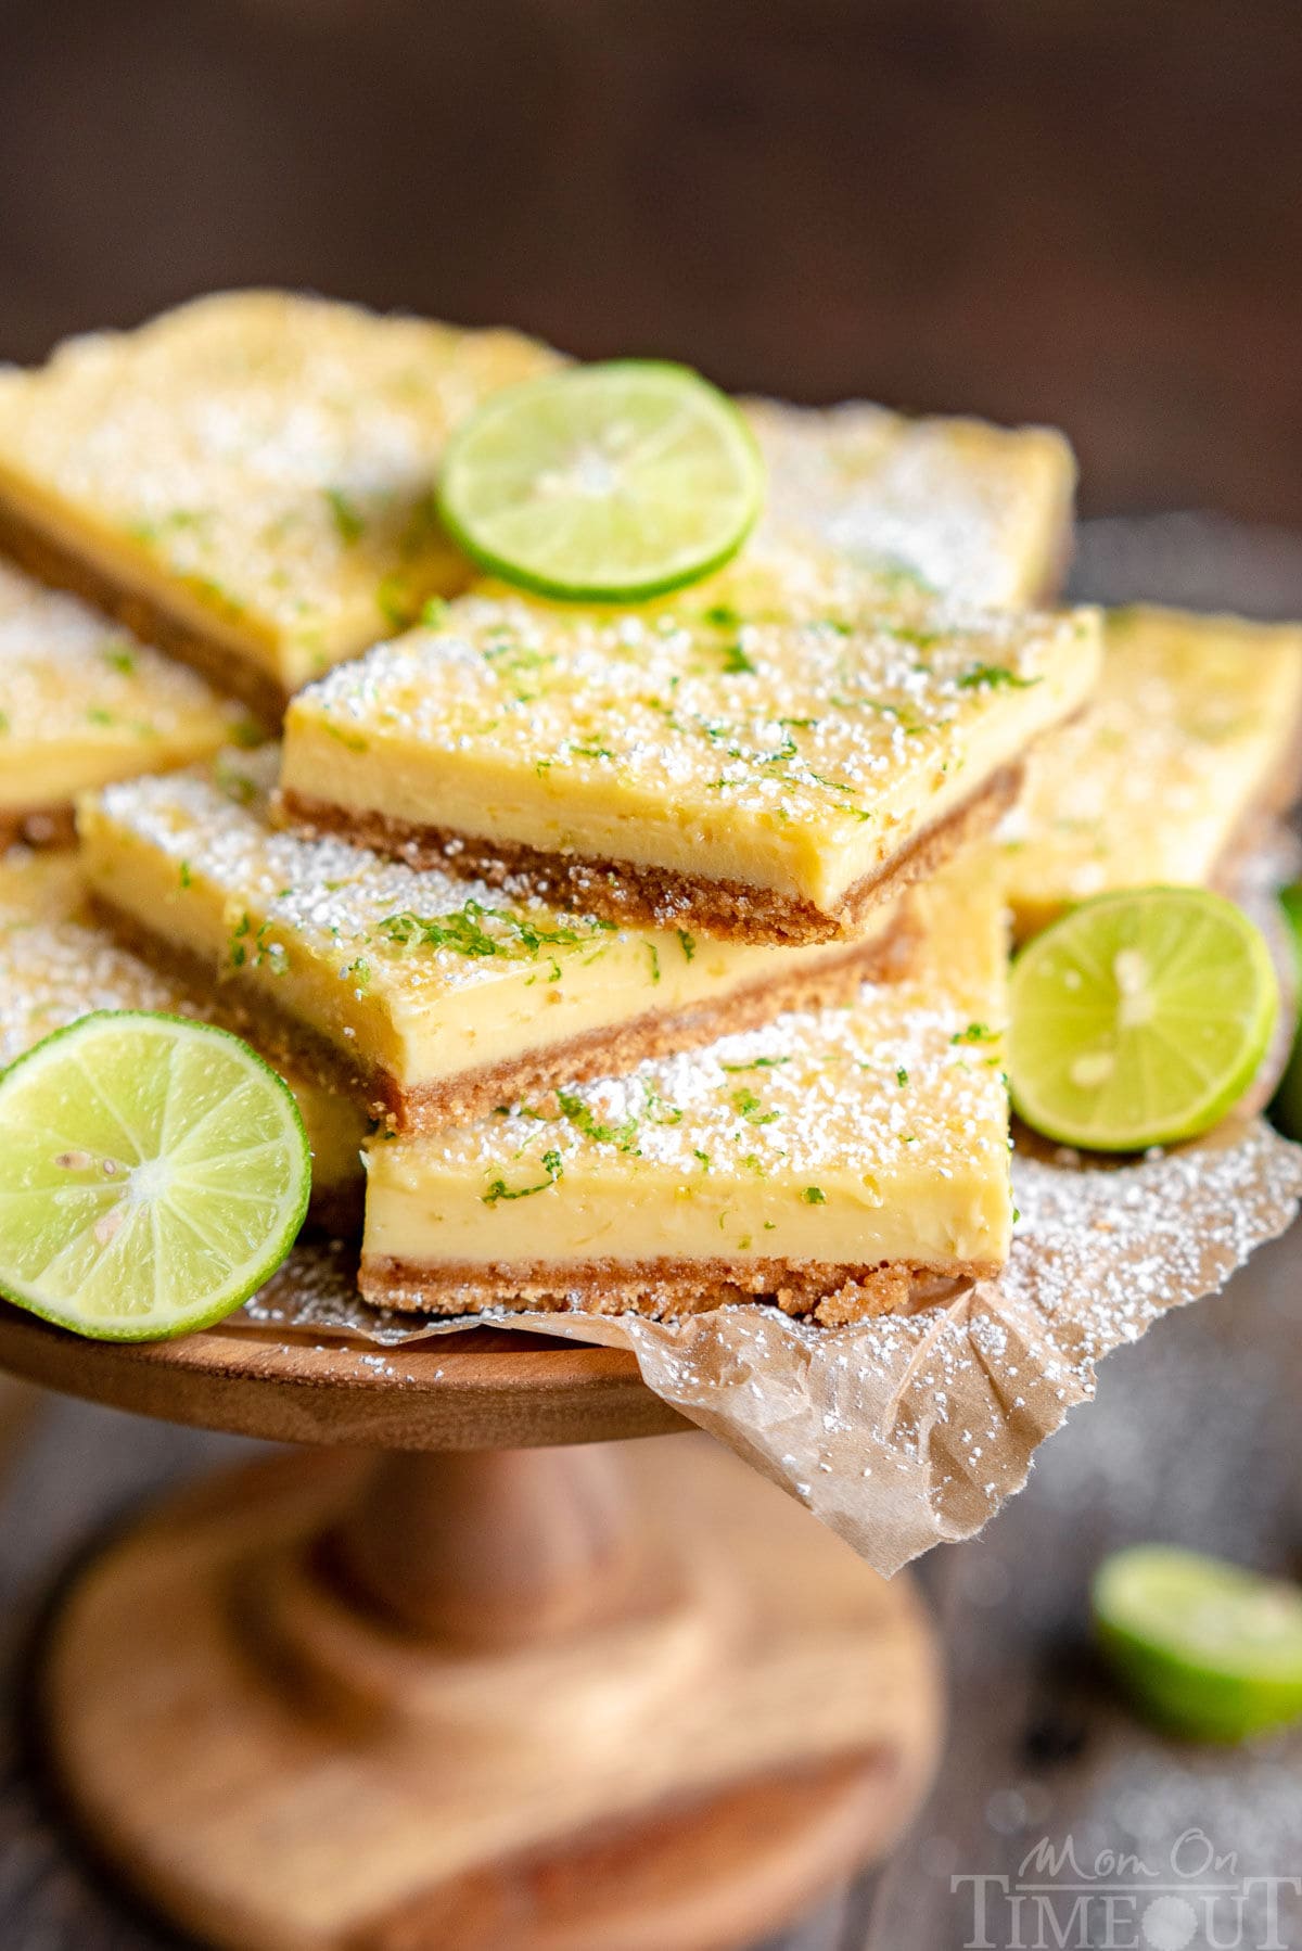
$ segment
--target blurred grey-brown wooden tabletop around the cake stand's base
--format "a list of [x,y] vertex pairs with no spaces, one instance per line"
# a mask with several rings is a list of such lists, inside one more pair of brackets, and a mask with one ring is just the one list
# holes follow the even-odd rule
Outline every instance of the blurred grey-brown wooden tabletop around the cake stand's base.
[[[1083,1631],[1097,1557],[1173,1537],[1302,1569],[1296,1416],[1298,1239],[1230,1292],[1185,1309],[1101,1372],[1023,1496],[972,1545],[935,1553],[951,1732],[937,1787],[878,1877],[824,1900],[763,1951],[953,1951],[966,1918],[949,1881],[1007,1873],[1038,1834],[1169,1848],[1202,1822],[1241,1873],[1290,1871],[1302,1740],[1189,1750],[1115,1701]],[[29,1678],[18,1647],[70,1553],[180,1477],[254,1446],[51,1399],[0,1479],[0,1943],[6,1951],[178,1951],[180,1939],[86,1869],[16,1738]]]

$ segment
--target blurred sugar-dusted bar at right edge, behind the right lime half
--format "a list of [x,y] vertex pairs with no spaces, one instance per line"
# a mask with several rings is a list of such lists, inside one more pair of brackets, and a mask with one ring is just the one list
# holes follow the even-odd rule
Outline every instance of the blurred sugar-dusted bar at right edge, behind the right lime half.
[[1300,626],[1113,611],[1093,702],[1035,753],[1001,829],[1019,938],[1091,894],[1222,880],[1292,796],[1300,734]]

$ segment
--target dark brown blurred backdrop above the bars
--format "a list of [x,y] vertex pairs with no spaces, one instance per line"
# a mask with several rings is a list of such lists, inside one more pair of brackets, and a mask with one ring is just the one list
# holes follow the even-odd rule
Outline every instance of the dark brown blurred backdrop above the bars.
[[0,0],[0,357],[314,287],[1302,527],[1296,0]]

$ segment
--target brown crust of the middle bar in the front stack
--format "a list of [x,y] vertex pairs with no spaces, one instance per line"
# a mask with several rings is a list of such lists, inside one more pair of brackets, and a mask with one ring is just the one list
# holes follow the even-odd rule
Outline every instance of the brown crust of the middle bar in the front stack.
[[92,892],[90,901],[127,948],[156,968],[166,968],[201,995],[217,993],[230,1026],[238,1034],[250,1034],[271,1061],[279,1055],[328,1089],[357,1098],[367,1116],[404,1135],[474,1124],[498,1104],[517,1104],[556,1087],[593,1077],[627,1077],[646,1057],[699,1050],[736,1030],[757,1030],[791,1009],[847,1003],[861,983],[902,974],[917,940],[915,917],[902,903],[890,929],[869,942],[849,942],[845,954],[830,956],[816,968],[798,968],[779,979],[765,974],[728,995],[687,1009],[644,1011],[629,1022],[584,1030],[547,1050],[406,1089],[381,1065],[365,1065],[361,1054],[349,1059],[320,1030],[291,1016],[260,991],[238,979],[221,981],[203,956],[154,935],[102,894]]

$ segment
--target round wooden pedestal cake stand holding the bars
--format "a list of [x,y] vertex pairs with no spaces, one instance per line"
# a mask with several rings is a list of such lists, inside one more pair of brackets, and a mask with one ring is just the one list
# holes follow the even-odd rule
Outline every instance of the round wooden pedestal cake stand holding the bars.
[[310,1444],[113,1539],[43,1651],[92,1846],[240,1951],[707,1951],[915,1812],[937,1656],[886,1584],[683,1430],[631,1356],[244,1325],[92,1344],[0,1305],[0,1364]]

